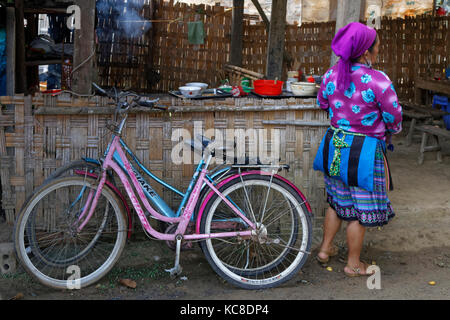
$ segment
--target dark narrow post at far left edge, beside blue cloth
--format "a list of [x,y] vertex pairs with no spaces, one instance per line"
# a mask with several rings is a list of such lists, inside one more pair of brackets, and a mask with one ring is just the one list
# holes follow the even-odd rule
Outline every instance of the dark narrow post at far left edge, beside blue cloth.
[[16,13],[6,7],[6,95],[13,96],[16,79]]

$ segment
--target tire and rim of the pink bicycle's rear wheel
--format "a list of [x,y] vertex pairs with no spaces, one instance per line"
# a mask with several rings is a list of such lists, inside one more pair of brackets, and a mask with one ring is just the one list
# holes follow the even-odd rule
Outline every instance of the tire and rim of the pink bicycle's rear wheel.
[[[265,228],[265,232],[273,237],[273,239],[269,239],[267,244],[262,242],[263,237],[257,238],[253,236],[251,239],[239,240],[238,238],[233,238],[231,241],[226,240],[226,242],[223,239],[213,238],[201,241],[201,246],[203,252],[205,253],[205,257],[213,270],[229,283],[244,289],[272,288],[290,280],[306,262],[311,248],[312,223],[304,200],[301,199],[298,193],[291,186],[289,186],[281,179],[278,179],[276,177],[271,178],[271,176],[259,174],[237,176],[236,178],[228,181],[226,184],[220,187],[219,191],[224,196],[227,196],[229,199],[231,199],[233,203],[238,204],[238,207],[243,210],[246,200],[244,199],[244,205],[242,205],[242,202],[239,202],[237,191],[243,190],[242,192],[244,193],[244,191],[248,191],[245,190],[249,189],[248,187],[255,187],[256,195],[259,193],[258,190],[261,189],[261,187],[267,186],[270,186],[267,190],[274,190],[273,192],[270,191],[266,193],[267,198],[269,198],[270,194],[271,197],[276,196],[279,199],[285,199],[284,202],[283,200],[280,200],[284,203],[284,207],[282,208],[284,211],[282,211],[282,214],[280,214],[280,218],[285,215],[291,215],[290,221],[292,226],[290,232],[291,234],[294,234],[294,236],[291,235],[290,240],[288,240],[289,242],[283,239],[284,236],[281,236],[282,234],[284,235],[284,233],[281,232],[281,228],[278,231],[278,238],[272,236],[272,234],[276,234],[276,230],[274,230],[273,226],[275,219],[274,221],[269,221],[267,226],[264,226],[264,223],[261,223],[260,225],[261,234],[264,234],[263,231]],[[250,197],[247,198],[250,199]],[[262,203],[264,202],[266,201],[262,201]],[[245,208],[244,211],[248,215],[248,217],[251,217],[252,215],[248,213],[251,210],[249,210],[249,207],[250,205],[247,205],[247,208]],[[263,220],[261,211],[264,211],[266,207],[262,209],[261,207],[263,206],[259,206],[260,216],[257,217],[256,214],[254,214],[254,216],[257,220],[261,219],[261,221],[263,222],[266,221],[265,219],[267,217],[270,217],[270,215],[274,214],[276,210],[281,210],[279,209],[279,206],[269,207],[269,209],[272,211],[270,212],[270,215]],[[294,211],[292,211],[292,208],[294,208]],[[222,210],[222,212],[220,210]],[[214,221],[227,221],[227,219],[228,221],[231,221],[231,215],[229,213],[226,213],[226,210],[230,210],[229,207],[223,203],[223,200],[218,197],[217,194],[214,194],[209,199],[202,214],[200,225],[201,233],[211,232],[214,228]],[[250,220],[253,221],[254,218]],[[287,221],[289,221],[289,218]],[[279,225],[281,226],[282,224],[280,223]],[[270,232],[269,227],[271,229]],[[243,223],[241,223],[240,228],[238,229],[246,230],[248,228]],[[234,231],[239,230],[235,229]],[[216,231],[224,230],[219,230],[216,228]],[[301,236],[298,237],[298,233],[300,231]],[[274,247],[269,248],[269,245],[271,244],[270,241],[273,241],[272,243],[274,244]],[[279,252],[279,250],[276,248],[278,246],[282,247],[280,245],[281,242],[285,242],[285,248],[281,252]],[[225,244],[225,246],[220,247],[219,250],[219,246],[223,243]],[[236,249],[230,249],[234,250],[234,253],[229,253],[228,249],[226,248],[227,246],[230,248],[234,246]],[[249,248],[252,248],[252,251],[250,251]],[[244,250],[246,250],[247,252],[244,253]],[[266,254],[263,252],[263,250]],[[222,254],[222,252],[224,253]],[[233,258],[233,261],[236,261],[236,265],[231,265],[230,261],[225,261],[226,254],[227,258],[230,257],[230,260],[232,260]],[[263,257],[264,254],[266,256],[273,255],[276,257],[273,261],[268,261],[267,257]],[[247,256],[246,261],[244,260],[241,262],[242,257],[245,255]],[[256,259],[252,256],[256,256]],[[250,260],[249,258],[253,260]],[[254,261],[258,259],[260,259],[261,262],[260,266],[248,268],[249,262],[253,264]],[[266,260],[268,261],[267,263],[265,262]],[[246,266],[243,267],[242,264],[244,262],[246,262]],[[256,264],[258,264],[258,262],[256,262],[255,265]],[[283,270],[281,270],[282,268]]]

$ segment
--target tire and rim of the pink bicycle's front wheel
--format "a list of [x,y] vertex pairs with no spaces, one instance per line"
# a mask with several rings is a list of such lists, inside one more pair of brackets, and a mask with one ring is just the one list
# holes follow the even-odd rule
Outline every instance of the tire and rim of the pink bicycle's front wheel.
[[[127,223],[124,216],[124,209],[122,207],[121,201],[117,198],[117,196],[114,194],[112,190],[104,186],[101,193],[101,196],[103,196],[106,199],[105,201],[106,209],[104,211],[106,213],[104,215],[106,216],[111,214],[111,219],[115,219],[114,220],[115,222],[113,223],[117,224],[117,230],[108,233],[105,232],[105,234],[103,234],[103,230],[101,230],[102,233],[101,236],[103,237],[101,238],[102,241],[98,240],[98,238],[95,238],[99,233],[98,230],[95,232],[94,239],[91,241],[84,241],[84,238],[82,238],[89,236],[90,235],[89,232],[85,232],[83,234],[82,231],[81,233],[76,235],[78,236],[77,238],[73,234],[69,234],[68,231],[64,232],[61,231],[63,229],[58,229],[56,227],[57,224],[55,223],[55,221],[57,221],[58,215],[57,214],[51,215],[51,213],[57,211],[53,210],[53,208],[47,207],[41,208],[37,206],[40,204],[45,204],[46,201],[48,202],[48,199],[46,199],[47,195],[51,194],[53,191],[62,192],[60,190],[64,187],[69,188],[87,187],[92,190],[96,189],[95,180],[88,177],[62,177],[50,181],[43,188],[40,188],[39,191],[36,192],[31,197],[27,205],[21,210],[17,218],[16,227],[14,230],[15,252],[18,260],[21,262],[22,266],[29,274],[31,274],[40,283],[57,289],[70,288],[70,285],[72,283],[70,281],[73,280],[72,278],[67,276],[67,274],[61,272],[61,270],[63,271],[64,269],[67,270],[69,262],[72,263],[72,265],[75,265],[75,263],[79,264],[83,268],[80,267],[80,278],[77,279],[79,280],[77,286],[78,289],[89,286],[95,283],[96,281],[100,280],[104,275],[106,275],[109,272],[109,270],[117,262],[125,246]],[[62,192],[62,194],[67,195],[70,194],[70,192]],[[76,194],[76,192],[74,194]],[[57,205],[60,204],[58,203]],[[112,209],[111,211],[110,208]],[[100,202],[96,208],[96,212],[97,209],[100,210],[101,212],[102,207],[100,206]],[[34,220],[39,215],[39,212],[42,213],[44,212],[44,210],[45,214],[42,215],[43,217],[42,225],[41,229],[39,229],[40,238],[36,237],[36,234],[34,234],[33,237],[33,234],[30,233],[30,228],[33,228],[35,226]],[[65,227],[67,228],[67,225],[70,225],[73,231],[73,224],[67,223],[68,221],[67,212],[70,211],[61,210],[59,211],[60,213],[59,216],[60,219],[63,219],[63,221],[65,221],[66,223]],[[94,218],[95,216],[91,218],[90,222],[95,222]],[[52,221],[51,226],[48,224],[47,220]],[[73,221],[74,220],[72,220],[71,222]],[[48,233],[45,233],[45,228],[49,229]],[[83,230],[89,231],[88,228],[93,227],[91,225],[86,225],[85,229]],[[102,226],[101,228],[104,228],[104,226]],[[111,228],[111,226],[109,225],[108,228]],[[56,236],[59,235],[60,233],[63,233],[62,238]],[[45,238],[46,236],[47,238]],[[39,241],[41,242],[39,243]],[[80,248],[83,247],[84,243],[88,243],[88,245],[86,246],[86,248],[84,248],[84,251],[86,252],[82,251],[82,254],[78,254],[76,256],[76,259],[70,259],[73,257],[69,256],[69,258],[66,259],[67,261],[61,260],[59,261],[59,263],[55,263],[54,259],[49,258],[50,252],[52,251],[55,252],[55,250],[58,250],[57,257],[62,255],[63,253],[64,254],[71,253],[72,251],[74,251],[73,248],[75,248],[76,250],[78,248],[76,244],[77,241],[80,244]],[[73,246],[70,246],[71,242],[74,243]],[[64,245],[65,247],[62,248],[62,246]],[[44,249],[37,250],[37,247],[39,246],[43,246]],[[110,253],[108,253],[107,250],[105,249],[106,246],[108,248],[111,248]],[[45,253],[46,250],[47,252]],[[107,253],[103,254],[102,252]],[[44,253],[48,254],[49,257],[44,257]],[[89,256],[94,257],[95,260],[98,260],[98,258],[100,257],[100,259],[104,259],[104,261],[103,262],[100,261],[97,267],[95,264],[93,265],[94,263],[93,261],[95,261],[94,259],[92,261],[86,261],[87,257]],[[53,269],[50,268],[54,268],[54,272],[52,272]],[[90,271],[90,269],[92,269],[92,271]],[[83,276],[81,276],[81,270],[83,270]],[[62,279],[56,278],[55,274],[57,274],[58,277],[61,277]]]

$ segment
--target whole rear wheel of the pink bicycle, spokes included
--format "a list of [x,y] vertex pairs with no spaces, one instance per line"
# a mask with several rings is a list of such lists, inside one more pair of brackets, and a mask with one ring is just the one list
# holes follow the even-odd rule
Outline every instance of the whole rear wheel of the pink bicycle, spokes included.
[[[219,191],[257,229],[248,238],[212,238],[201,242],[212,268],[245,289],[264,289],[291,279],[311,247],[311,219],[304,201],[284,181],[270,175],[237,176]],[[216,194],[202,214],[201,233],[249,230]]]

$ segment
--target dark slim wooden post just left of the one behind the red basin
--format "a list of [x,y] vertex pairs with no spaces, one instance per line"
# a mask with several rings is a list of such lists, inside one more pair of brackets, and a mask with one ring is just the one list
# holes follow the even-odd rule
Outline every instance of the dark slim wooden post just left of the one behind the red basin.
[[233,0],[233,21],[231,25],[230,63],[242,66],[242,39],[244,32],[244,0]]

